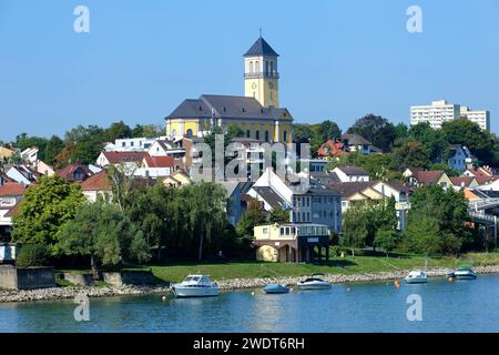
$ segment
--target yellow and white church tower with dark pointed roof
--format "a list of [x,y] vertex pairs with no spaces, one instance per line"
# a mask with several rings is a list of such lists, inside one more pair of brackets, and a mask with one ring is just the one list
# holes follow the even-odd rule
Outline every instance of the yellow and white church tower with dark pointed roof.
[[244,95],[263,106],[279,106],[277,54],[262,38],[244,54]]

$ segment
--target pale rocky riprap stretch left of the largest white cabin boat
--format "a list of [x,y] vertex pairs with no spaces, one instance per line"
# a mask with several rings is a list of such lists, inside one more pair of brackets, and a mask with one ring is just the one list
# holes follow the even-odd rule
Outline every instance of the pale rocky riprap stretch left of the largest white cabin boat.
[[153,293],[165,293],[166,290],[167,288],[165,288],[164,286],[123,285],[109,287],[79,286],[22,291],[0,291],[0,303],[74,298],[79,294],[85,294],[89,297],[145,295]]

